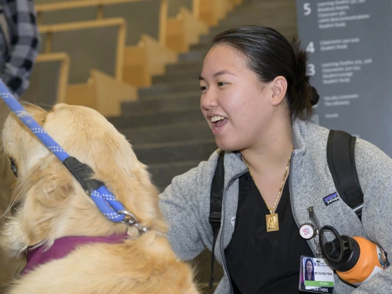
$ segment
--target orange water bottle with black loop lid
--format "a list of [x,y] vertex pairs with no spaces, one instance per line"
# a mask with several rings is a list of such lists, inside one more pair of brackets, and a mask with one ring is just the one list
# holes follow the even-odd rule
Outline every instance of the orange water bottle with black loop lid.
[[[324,231],[331,231],[335,239],[323,242]],[[384,250],[363,237],[340,236],[333,226],[320,229],[320,248],[323,257],[344,281],[355,286],[369,282],[371,277],[389,266]]]

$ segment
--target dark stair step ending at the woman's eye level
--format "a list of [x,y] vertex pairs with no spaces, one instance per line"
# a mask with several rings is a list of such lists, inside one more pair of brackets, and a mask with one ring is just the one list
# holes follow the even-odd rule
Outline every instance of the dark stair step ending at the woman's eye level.
[[190,92],[197,91],[200,88],[199,81],[182,81],[176,84],[158,84],[149,88],[139,88],[139,97],[162,95],[174,92]]

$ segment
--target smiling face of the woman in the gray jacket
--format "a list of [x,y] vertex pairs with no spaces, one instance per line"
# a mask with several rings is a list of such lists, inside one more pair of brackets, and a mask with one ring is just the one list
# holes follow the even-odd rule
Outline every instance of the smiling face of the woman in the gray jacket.
[[201,108],[217,146],[242,150],[254,146],[271,124],[272,86],[261,83],[235,48],[217,45],[204,59],[200,76]]

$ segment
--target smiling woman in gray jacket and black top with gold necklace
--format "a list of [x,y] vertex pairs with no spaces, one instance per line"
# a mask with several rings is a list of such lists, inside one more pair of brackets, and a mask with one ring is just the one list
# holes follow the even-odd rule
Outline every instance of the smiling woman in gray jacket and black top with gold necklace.
[[[224,267],[216,294],[300,293],[300,257],[314,256],[316,249],[314,242],[300,237],[298,228],[309,222],[310,207],[320,226],[375,234],[392,251],[392,234],[365,231],[373,227],[373,217],[378,227],[388,227],[391,217],[386,215],[392,207],[383,206],[380,213],[379,207],[364,205],[362,226],[344,202],[331,208],[322,201],[336,188],[326,160],[329,130],[312,122],[317,121],[313,106],[319,95],[306,75],[307,58],[299,41],[290,43],[272,28],[244,26],[217,35],[204,59],[200,106],[220,150],[175,177],[160,195],[160,207],[181,259],[215,247]],[[222,153],[223,168],[217,167]],[[377,164],[369,166],[369,158]],[[392,180],[384,175],[392,175],[392,160],[357,139],[355,162],[364,197],[387,203]],[[222,217],[215,243],[208,222],[210,204],[217,199],[211,187],[214,175],[222,173],[222,206],[213,210]],[[377,280],[369,284],[368,293],[381,293]],[[353,288],[337,281],[335,290],[351,293]]]

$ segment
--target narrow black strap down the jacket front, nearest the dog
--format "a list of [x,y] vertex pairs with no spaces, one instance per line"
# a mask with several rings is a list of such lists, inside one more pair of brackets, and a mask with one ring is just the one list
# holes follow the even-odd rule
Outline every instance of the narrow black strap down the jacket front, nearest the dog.
[[224,151],[222,150],[219,154],[217,168],[215,168],[215,175],[213,177],[213,183],[211,184],[211,195],[210,195],[210,217],[208,221],[213,228],[213,254],[211,256],[211,278],[210,278],[210,289],[213,288],[214,284],[214,263],[215,263],[215,244],[221,226],[222,219],[222,198],[224,191]]

